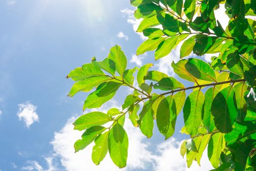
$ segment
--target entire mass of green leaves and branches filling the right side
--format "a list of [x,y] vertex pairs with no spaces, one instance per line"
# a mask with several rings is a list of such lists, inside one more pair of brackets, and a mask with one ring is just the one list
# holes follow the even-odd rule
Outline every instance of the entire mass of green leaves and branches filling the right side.
[[[109,152],[113,162],[123,168],[128,156],[128,135],[123,128],[126,114],[148,138],[153,135],[155,119],[167,139],[174,134],[183,108],[181,133],[190,139],[182,143],[180,153],[186,155],[188,167],[194,160],[200,165],[207,148],[214,171],[255,171],[256,21],[247,16],[256,16],[256,1],[131,0],[131,4],[137,7],[134,16],[143,19],[137,31],[148,37],[138,47],[138,55],[155,50],[158,60],[181,42],[180,58],[191,52],[219,55],[212,57],[210,64],[197,58],[171,64],[180,78],[194,83],[190,87],[150,70],[153,64],[127,69],[127,58],[118,45],[103,61],[93,58],[90,64],[71,71],[68,78],[76,83],[69,96],[93,90],[83,109],[101,107],[122,85],[134,90],[122,109],[86,113],[74,122],[75,129],[85,130],[75,143],[76,152],[94,142],[95,164]],[[221,4],[230,18],[227,28],[215,19],[214,10]],[[133,84],[135,73],[138,87]],[[186,90],[192,92],[186,95]]]

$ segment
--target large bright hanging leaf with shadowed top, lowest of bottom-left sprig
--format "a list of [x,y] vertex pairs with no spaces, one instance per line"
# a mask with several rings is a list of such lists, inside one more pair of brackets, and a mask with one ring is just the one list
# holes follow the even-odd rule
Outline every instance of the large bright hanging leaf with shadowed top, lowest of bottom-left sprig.
[[108,150],[114,164],[119,168],[126,167],[128,156],[128,136],[120,124],[115,124],[109,131]]

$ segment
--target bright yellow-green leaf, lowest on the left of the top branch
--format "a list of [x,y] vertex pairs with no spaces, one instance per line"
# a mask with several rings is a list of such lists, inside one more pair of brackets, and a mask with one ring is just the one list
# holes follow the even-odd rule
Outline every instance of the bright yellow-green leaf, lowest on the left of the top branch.
[[148,39],[145,42],[143,42],[137,49],[136,55],[141,55],[147,51],[154,50],[157,48],[157,46],[164,41],[166,38],[160,37],[155,39]]

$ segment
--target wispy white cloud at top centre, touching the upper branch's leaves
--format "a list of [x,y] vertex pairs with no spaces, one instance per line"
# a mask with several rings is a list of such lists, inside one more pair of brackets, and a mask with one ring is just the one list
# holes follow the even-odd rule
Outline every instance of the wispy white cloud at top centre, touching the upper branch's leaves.
[[[133,16],[134,10],[125,8],[125,9],[121,10],[121,12],[128,17],[127,22],[129,24],[132,24],[132,28],[136,32],[136,30],[137,30],[138,26],[140,25],[140,22],[142,21],[142,19],[137,20],[137,19],[134,18],[134,16]],[[124,17],[125,17],[125,15],[124,15]],[[138,33],[138,32],[136,32],[136,33],[140,36],[140,38],[142,40],[147,40],[147,37],[145,37],[143,35],[143,33]]]

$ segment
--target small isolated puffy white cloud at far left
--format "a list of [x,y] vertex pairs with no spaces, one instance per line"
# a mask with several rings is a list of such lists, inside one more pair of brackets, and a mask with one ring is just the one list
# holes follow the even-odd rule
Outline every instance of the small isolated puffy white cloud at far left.
[[17,116],[19,120],[23,120],[26,124],[26,127],[29,128],[34,122],[39,122],[39,117],[36,113],[36,106],[32,105],[29,102],[25,104],[19,104],[19,111]]

